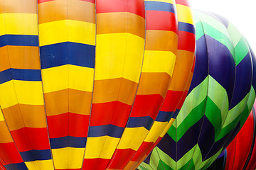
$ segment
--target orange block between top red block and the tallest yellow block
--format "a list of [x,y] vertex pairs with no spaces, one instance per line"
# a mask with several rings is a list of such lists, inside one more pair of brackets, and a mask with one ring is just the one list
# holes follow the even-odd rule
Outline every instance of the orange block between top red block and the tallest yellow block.
[[141,38],[145,37],[145,19],[134,13],[98,13],[97,34],[131,33]]

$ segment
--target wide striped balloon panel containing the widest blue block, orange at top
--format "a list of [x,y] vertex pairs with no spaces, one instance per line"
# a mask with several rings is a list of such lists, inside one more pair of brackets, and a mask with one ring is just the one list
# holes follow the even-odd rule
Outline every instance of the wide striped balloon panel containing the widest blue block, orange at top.
[[55,169],[81,169],[95,68],[95,2],[38,1],[43,91]]

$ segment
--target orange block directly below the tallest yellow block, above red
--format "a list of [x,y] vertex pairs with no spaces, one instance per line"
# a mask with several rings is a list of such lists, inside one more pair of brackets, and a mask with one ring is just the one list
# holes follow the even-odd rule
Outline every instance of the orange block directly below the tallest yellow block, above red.
[[137,83],[124,78],[96,80],[92,103],[121,101],[132,105]]

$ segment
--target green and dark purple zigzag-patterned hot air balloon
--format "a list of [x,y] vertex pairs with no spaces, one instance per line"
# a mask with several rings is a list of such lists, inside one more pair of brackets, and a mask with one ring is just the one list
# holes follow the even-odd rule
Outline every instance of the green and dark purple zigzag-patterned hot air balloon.
[[188,96],[138,169],[206,169],[230,144],[255,101],[256,58],[221,16],[194,11],[196,64]]

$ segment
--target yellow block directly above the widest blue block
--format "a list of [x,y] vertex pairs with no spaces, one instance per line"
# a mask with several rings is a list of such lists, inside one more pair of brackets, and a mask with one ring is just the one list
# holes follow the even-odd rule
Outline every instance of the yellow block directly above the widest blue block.
[[95,23],[75,20],[42,23],[39,36],[40,46],[67,41],[95,45]]

